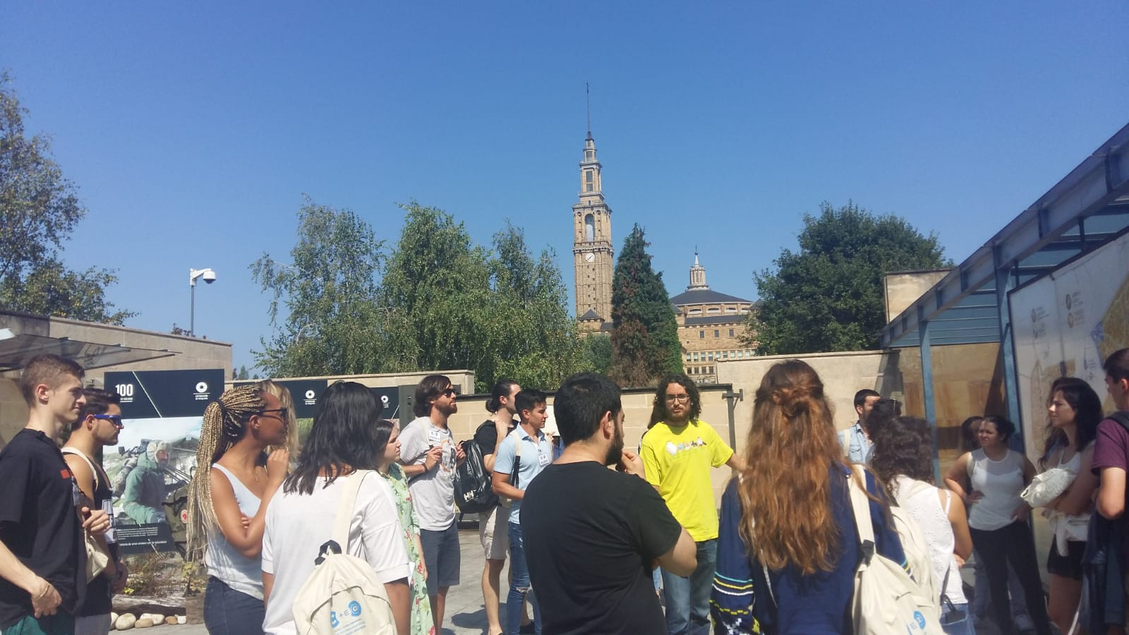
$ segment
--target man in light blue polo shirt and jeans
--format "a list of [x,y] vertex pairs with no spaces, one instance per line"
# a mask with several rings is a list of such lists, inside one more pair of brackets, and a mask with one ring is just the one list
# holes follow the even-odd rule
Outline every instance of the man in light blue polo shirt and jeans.
[[498,446],[495,458],[493,490],[498,496],[511,498],[509,508],[509,595],[506,598],[507,635],[517,635],[522,627],[522,603],[526,595],[533,607],[533,628],[541,633],[541,609],[530,589],[530,568],[525,563],[522,543],[522,499],[525,489],[541,470],[552,462],[553,446],[542,429],[549,417],[546,395],[540,390],[523,390],[514,398],[514,406],[522,425],[509,433]]

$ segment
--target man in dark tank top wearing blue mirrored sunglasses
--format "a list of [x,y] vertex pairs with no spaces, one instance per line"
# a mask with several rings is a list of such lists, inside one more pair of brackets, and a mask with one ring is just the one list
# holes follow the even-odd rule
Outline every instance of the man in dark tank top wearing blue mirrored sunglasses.
[[[121,398],[96,388],[87,388],[82,394],[86,405],[71,426],[70,438],[62,450],[63,459],[75,473],[75,480],[86,498],[85,504],[105,511],[113,519],[114,494],[110,477],[95,456],[99,447],[117,444],[117,434],[122,429]],[[119,558],[113,530],[97,540],[111,558],[105,571],[86,585],[86,599],[75,612],[76,635],[110,633],[111,599],[125,588],[125,565]]]

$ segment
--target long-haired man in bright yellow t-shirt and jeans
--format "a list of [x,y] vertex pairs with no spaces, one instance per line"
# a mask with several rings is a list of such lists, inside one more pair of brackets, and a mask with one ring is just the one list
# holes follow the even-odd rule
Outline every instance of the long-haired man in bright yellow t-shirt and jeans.
[[698,567],[690,577],[663,572],[666,627],[671,635],[709,633],[709,595],[717,563],[717,507],[710,470],[744,462],[701,415],[698,386],[686,375],[658,383],[650,426],[642,437],[647,481],[698,546]]

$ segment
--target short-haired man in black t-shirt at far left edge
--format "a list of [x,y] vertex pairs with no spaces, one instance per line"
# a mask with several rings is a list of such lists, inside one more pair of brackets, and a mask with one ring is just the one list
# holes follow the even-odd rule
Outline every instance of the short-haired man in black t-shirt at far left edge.
[[82,529],[95,534],[110,529],[105,512],[78,506],[78,486],[58,445],[85,403],[82,374],[69,359],[40,355],[19,380],[28,423],[0,452],[2,633],[72,633],[86,590]]

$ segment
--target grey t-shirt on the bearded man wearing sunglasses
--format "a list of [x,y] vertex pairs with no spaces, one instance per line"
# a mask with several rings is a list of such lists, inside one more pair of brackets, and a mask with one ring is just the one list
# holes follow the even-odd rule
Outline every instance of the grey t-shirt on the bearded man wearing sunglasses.
[[443,447],[443,459],[430,471],[408,481],[420,529],[441,531],[455,522],[455,435],[428,417],[419,417],[400,432],[400,461],[421,466],[432,445]]

